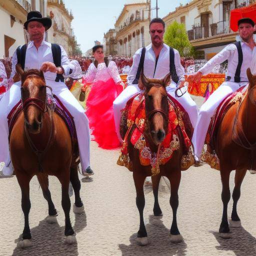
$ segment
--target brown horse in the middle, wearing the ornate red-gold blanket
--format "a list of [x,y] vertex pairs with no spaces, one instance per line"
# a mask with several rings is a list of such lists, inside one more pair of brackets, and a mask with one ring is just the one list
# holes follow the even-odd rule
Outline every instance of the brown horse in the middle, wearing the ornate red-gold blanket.
[[[168,99],[165,86],[168,84],[170,75],[167,74],[163,79],[147,79],[143,74],[140,76],[142,84],[145,86],[145,113],[146,129],[144,136],[146,137],[152,152],[157,152],[159,143],[163,141],[167,134],[168,124]],[[143,209],[145,205],[145,197],[143,184],[146,176],[151,176],[151,166],[140,164],[138,149],[130,142],[130,137],[134,127],[128,134],[128,154],[133,167],[133,180],[136,188],[136,205],[139,211],[139,230],[137,232],[137,242],[140,245],[148,243],[147,233],[143,220]],[[170,181],[171,195],[170,205],[173,212],[172,224],[170,228],[171,241],[179,242],[182,240],[177,227],[176,212],[178,207],[178,187],[181,177],[180,161],[182,157],[182,138],[179,137],[180,146],[175,150],[172,158],[165,164],[160,165],[160,172],[152,176],[152,187],[154,194],[153,213],[155,216],[161,216],[162,211],[158,203],[158,186],[161,176],[166,176]]]

